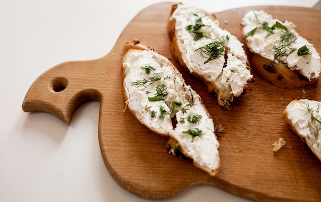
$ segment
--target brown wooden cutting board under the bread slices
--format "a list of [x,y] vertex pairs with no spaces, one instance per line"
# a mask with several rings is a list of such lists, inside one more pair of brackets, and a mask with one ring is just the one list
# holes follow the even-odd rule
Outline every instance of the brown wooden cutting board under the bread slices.
[[[152,5],[135,16],[104,57],[59,64],[30,87],[23,110],[45,111],[69,125],[73,112],[89,100],[101,103],[99,145],[107,170],[129,192],[149,199],[171,197],[193,185],[210,185],[253,200],[313,201],[321,198],[321,162],[287,128],[283,110],[293,99],[321,100],[320,79],[298,90],[281,90],[260,79],[228,111],[219,107],[198,80],[178,66],[169,48],[167,21],[172,3]],[[240,41],[240,21],[251,9],[264,9],[297,25],[297,32],[321,52],[321,10],[300,7],[247,7],[215,13],[220,25]],[[123,44],[133,39],[172,60],[188,85],[198,92],[214,119],[226,131],[218,137],[221,166],[215,177],[167,153],[166,139],[138,123],[125,103],[121,83]],[[246,50],[249,58],[251,54]],[[274,153],[272,144],[287,144]]]

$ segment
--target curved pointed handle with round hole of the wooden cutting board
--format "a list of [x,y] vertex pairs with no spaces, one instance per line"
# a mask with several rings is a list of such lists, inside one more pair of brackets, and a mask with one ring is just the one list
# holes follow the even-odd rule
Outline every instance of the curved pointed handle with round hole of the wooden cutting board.
[[104,65],[108,57],[66,62],[44,72],[29,88],[23,111],[48,112],[69,125],[77,107],[90,100],[101,101],[104,83],[97,80],[108,74],[103,68],[108,69]]

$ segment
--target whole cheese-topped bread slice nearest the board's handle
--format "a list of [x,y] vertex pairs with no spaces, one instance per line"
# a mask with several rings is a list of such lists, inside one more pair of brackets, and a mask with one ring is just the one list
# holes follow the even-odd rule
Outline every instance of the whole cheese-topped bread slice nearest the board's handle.
[[[122,75],[126,105],[141,124],[175,142],[176,149],[193,159],[196,167],[215,175],[220,164],[219,143],[213,119],[202,99],[185,84],[169,59],[142,47],[137,41],[124,47],[127,52]],[[148,82],[136,85],[142,81]]]

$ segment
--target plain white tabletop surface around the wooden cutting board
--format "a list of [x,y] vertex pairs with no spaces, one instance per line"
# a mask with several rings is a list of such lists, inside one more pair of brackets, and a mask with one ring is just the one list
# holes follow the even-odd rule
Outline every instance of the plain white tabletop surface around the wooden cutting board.
[[[158,2],[0,1],[0,201],[147,201],[119,187],[105,168],[98,102],[81,106],[69,127],[21,106],[39,75],[62,62],[106,55],[131,19]],[[317,0],[181,2],[219,12],[254,5],[312,7]],[[196,186],[164,201],[246,200]]]

